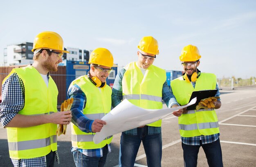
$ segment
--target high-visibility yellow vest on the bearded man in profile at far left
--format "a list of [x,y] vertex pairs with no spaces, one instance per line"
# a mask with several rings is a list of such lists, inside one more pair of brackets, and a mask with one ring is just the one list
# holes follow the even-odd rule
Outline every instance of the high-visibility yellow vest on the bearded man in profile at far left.
[[[48,88],[33,66],[14,68],[12,74],[22,79],[25,87],[25,106],[22,115],[40,115],[57,112],[57,86],[50,76]],[[3,81],[3,83],[4,83]],[[27,159],[45,156],[57,150],[57,125],[46,123],[32,127],[7,127],[10,158]]]

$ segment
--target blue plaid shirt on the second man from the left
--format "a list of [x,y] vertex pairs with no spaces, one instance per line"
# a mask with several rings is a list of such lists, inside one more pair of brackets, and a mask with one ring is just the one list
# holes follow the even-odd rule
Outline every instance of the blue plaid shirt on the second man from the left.
[[[72,111],[72,120],[71,122],[74,123],[79,129],[83,132],[89,133],[92,132],[92,122],[94,120],[88,119],[83,114],[83,109],[86,105],[86,96],[85,93],[81,90],[81,88],[74,84],[71,88],[67,91],[68,98],[73,98],[73,104],[71,107]],[[90,157],[102,157],[103,151],[102,148],[98,149],[79,149],[77,147],[72,147],[71,152],[79,150],[82,154]],[[111,152],[110,144],[108,145],[108,152]]]

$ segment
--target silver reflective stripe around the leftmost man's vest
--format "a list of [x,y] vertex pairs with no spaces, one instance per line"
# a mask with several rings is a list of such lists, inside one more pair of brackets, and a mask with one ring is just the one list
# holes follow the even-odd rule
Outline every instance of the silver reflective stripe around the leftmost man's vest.
[[[52,143],[57,143],[56,135],[52,136]],[[36,149],[36,148],[46,147],[49,145],[51,145],[51,137],[31,140],[31,141],[8,142],[8,147],[10,151]]]

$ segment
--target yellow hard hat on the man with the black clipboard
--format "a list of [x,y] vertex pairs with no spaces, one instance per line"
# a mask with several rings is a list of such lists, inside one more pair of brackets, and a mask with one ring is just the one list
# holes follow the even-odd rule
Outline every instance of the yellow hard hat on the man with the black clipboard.
[[198,47],[193,45],[185,46],[180,55],[180,61],[193,62],[201,58]]

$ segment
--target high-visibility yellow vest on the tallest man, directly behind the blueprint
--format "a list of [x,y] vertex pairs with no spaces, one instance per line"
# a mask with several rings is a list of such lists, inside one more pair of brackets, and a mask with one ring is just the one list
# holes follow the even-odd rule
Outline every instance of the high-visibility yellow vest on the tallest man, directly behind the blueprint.
[[[125,67],[126,72],[122,79],[123,99],[145,109],[162,109],[162,89],[166,81],[166,72],[162,68],[151,65],[145,75],[142,74],[136,62]],[[162,120],[148,124],[160,127]]]

